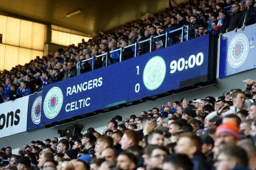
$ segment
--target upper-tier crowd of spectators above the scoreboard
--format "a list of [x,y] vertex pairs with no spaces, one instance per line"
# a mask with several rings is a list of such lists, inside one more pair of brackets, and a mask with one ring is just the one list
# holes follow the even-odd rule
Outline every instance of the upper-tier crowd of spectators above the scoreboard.
[[[231,5],[231,13],[224,6]],[[239,0],[194,0],[185,4],[170,1],[170,8],[163,12],[149,16],[145,20],[133,21],[114,29],[108,33],[94,36],[88,42],[69,45],[67,49],[58,49],[56,53],[36,57],[24,66],[18,65],[12,70],[4,70],[0,74],[0,103],[39,92],[47,84],[65,80],[77,75],[77,63],[93,56],[126,47],[136,41],[142,41],[156,35],[172,31],[184,25],[189,27],[189,39],[211,33],[221,36],[228,31],[245,29],[247,25],[256,23],[256,8],[253,0],[245,3]],[[170,33],[168,45],[181,41],[181,31]],[[152,50],[164,47],[165,38],[154,39]],[[138,45],[137,56],[148,53],[150,43]],[[122,51],[122,60],[134,56],[135,47]],[[94,69],[115,64],[120,61],[120,51],[111,53],[106,61],[106,56],[98,57],[94,61]],[[92,60],[81,64],[81,73],[92,70]]]

